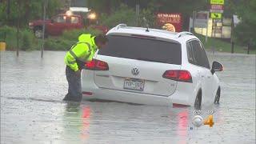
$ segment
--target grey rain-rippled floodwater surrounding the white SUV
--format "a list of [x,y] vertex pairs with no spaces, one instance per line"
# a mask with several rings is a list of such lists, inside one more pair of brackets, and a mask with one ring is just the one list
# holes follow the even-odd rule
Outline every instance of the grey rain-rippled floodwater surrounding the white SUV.
[[1,52],[1,143],[255,143],[255,55],[208,53],[225,66],[212,128],[192,125],[193,107],[62,102],[64,55]]

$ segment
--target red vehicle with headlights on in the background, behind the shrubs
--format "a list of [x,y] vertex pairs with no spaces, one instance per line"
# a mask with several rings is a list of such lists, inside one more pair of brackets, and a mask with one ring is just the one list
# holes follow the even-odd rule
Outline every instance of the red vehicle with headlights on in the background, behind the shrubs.
[[[30,29],[34,30],[34,36],[36,38],[42,38],[43,20],[36,20],[30,22],[29,26]],[[58,14],[50,20],[46,20],[45,26],[46,36],[61,35],[64,30],[82,29],[87,27],[100,30],[103,34],[106,34],[106,32],[108,31],[108,28],[106,26],[88,24],[86,26],[86,20],[84,20],[84,18],[82,18],[82,16],[78,14]]]

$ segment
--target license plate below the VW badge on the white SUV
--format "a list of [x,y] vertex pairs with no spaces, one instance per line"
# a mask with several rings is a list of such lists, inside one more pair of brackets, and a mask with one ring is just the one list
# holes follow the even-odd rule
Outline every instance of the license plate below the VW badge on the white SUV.
[[144,90],[144,83],[145,81],[142,79],[135,79],[135,78],[126,78],[123,88],[129,90]]

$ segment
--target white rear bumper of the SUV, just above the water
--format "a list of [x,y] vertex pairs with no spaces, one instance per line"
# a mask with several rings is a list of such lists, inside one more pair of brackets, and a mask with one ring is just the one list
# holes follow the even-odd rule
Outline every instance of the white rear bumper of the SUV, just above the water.
[[[189,84],[187,84],[189,85]],[[100,88],[94,83],[94,73],[82,70],[82,92],[90,92],[92,95],[82,94],[83,99],[103,99],[119,102],[131,102],[146,105],[172,106],[173,103],[191,106],[191,95],[188,95],[184,87],[181,86],[174,94],[164,97],[154,94],[140,94],[122,90],[110,90]],[[185,86],[187,87],[187,86]],[[181,90],[179,90],[181,89]]]

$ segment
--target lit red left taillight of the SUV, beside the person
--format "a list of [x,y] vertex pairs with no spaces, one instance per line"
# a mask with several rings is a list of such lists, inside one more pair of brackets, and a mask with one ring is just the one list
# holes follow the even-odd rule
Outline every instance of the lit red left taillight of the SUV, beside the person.
[[109,65],[106,62],[93,59],[90,62],[86,62],[86,70],[109,70]]

